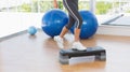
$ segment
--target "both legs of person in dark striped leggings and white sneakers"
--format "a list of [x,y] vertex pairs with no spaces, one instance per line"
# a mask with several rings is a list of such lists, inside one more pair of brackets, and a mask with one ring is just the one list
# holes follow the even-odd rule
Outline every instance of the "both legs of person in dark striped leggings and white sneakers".
[[60,35],[55,37],[54,40],[57,45],[63,48],[63,37],[70,29],[70,27],[76,23],[75,28],[75,41],[72,48],[77,48],[79,51],[84,51],[86,47],[79,42],[80,27],[82,25],[82,18],[78,12],[78,0],[64,0],[64,6],[67,9],[70,15],[69,23],[63,28]]

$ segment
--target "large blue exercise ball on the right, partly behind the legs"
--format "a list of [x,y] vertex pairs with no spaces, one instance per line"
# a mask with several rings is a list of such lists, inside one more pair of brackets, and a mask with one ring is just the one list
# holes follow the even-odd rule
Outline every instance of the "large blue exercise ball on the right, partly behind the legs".
[[[98,30],[98,19],[93,13],[90,11],[79,11],[82,17],[82,26],[80,30],[80,39],[89,39],[91,38]],[[70,31],[74,33],[74,27],[72,27]]]

